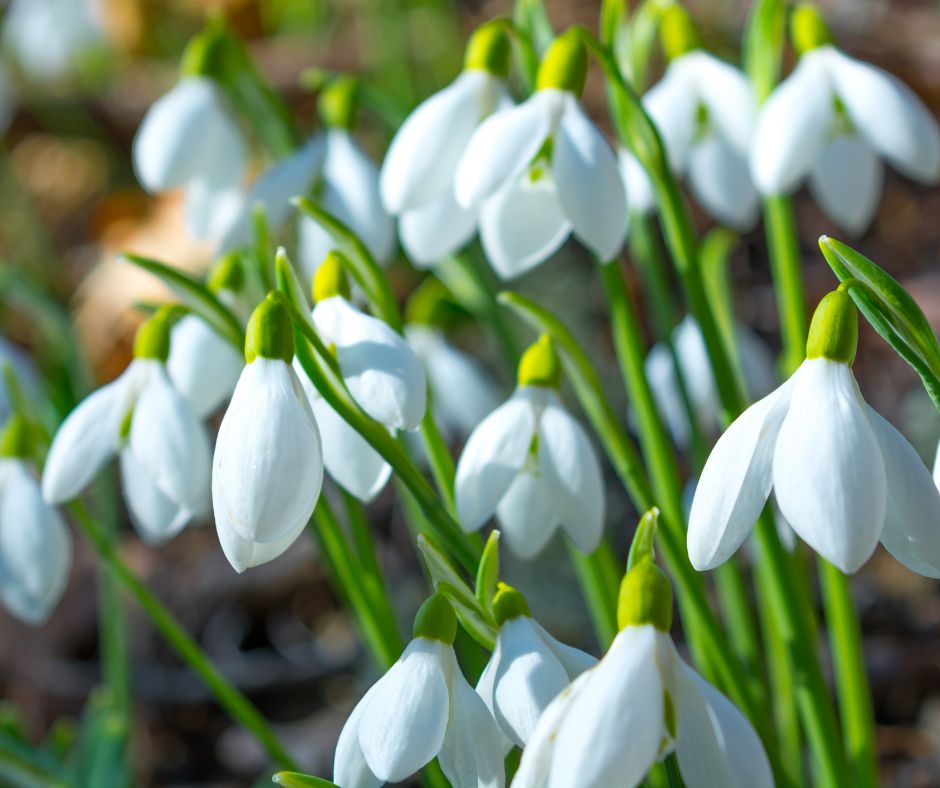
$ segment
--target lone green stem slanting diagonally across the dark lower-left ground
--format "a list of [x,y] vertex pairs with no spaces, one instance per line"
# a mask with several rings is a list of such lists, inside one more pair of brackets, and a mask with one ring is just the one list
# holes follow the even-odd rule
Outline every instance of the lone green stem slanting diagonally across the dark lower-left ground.
[[143,608],[176,653],[202,679],[219,705],[257,739],[278,766],[296,770],[297,765],[293,758],[288,755],[258,709],[219,672],[212,660],[183,629],[173,614],[121,560],[107,535],[98,527],[85,506],[75,501],[69,508],[82,533],[98,554],[99,559],[108,567],[108,571]]

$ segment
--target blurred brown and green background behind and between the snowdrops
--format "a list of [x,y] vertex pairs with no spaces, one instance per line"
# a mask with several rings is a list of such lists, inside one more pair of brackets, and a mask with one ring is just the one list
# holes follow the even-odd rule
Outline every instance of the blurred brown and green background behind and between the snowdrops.
[[[548,2],[556,29],[596,26],[598,3]],[[706,46],[739,62],[748,3],[688,6]],[[850,54],[899,76],[940,115],[940,8],[935,2],[821,3]],[[115,261],[129,250],[203,271],[212,249],[193,241],[180,195],[151,196],[137,184],[131,143],[147,107],[175,82],[179,59],[209,12],[224,14],[288,103],[299,129],[316,125],[305,69],[357,71],[393,103],[411,107],[459,70],[463,42],[479,22],[511,13],[508,2],[448,0],[14,0],[0,5],[0,358],[17,370],[36,409],[54,427],[91,387],[128,363],[134,304],[167,294],[156,280]],[[654,67],[659,73],[661,64]],[[609,129],[602,86],[587,91]],[[376,158],[393,129],[368,110],[358,136]],[[259,159],[258,167],[264,161]],[[839,237],[813,203],[797,201],[810,300],[833,278],[815,251],[821,233]],[[697,213],[700,229],[708,227]],[[872,229],[852,241],[914,295],[940,328],[940,189],[887,173]],[[591,349],[623,408],[603,296],[590,260],[569,246],[519,283],[555,304]],[[762,230],[732,257],[739,317],[779,347]],[[404,298],[419,280],[392,271]],[[572,299],[571,293],[579,298]],[[519,327],[520,337],[529,334]],[[508,394],[511,375],[473,325],[456,341],[488,362]],[[869,402],[932,463],[940,419],[913,373],[867,326],[856,372]],[[0,390],[0,420],[6,418]],[[623,411],[625,412],[625,410]],[[627,544],[636,513],[609,485],[608,528]],[[124,517],[123,514],[119,516]],[[411,536],[393,488],[370,507],[383,567],[403,631],[424,594]],[[339,729],[374,679],[313,540],[236,575],[214,529],[195,526],[159,550],[125,523],[124,558],[181,618],[222,671],[258,704],[304,768],[328,775]],[[507,579],[529,596],[557,636],[595,650],[565,550],[549,548],[536,572],[506,556]],[[76,539],[69,591],[51,620],[30,628],[0,611],[0,726],[32,742],[65,741],[100,683],[94,555]],[[855,584],[878,721],[883,777],[897,786],[940,785],[940,594],[879,550]],[[232,727],[199,681],[128,607],[134,689],[135,785],[250,785],[263,752]],[[825,644],[821,644],[824,648]],[[15,706],[15,710],[14,707]],[[2,784],[2,779],[0,779]]]

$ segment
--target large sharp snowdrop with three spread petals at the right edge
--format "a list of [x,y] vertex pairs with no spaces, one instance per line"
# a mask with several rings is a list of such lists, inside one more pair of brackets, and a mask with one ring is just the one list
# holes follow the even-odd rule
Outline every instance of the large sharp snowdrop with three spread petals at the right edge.
[[908,568],[940,577],[940,492],[862,399],[851,368],[857,341],[858,314],[840,288],[816,309],[799,369],[721,436],[689,515],[697,569],[738,549],[773,489],[793,530],[843,572],[881,541]]

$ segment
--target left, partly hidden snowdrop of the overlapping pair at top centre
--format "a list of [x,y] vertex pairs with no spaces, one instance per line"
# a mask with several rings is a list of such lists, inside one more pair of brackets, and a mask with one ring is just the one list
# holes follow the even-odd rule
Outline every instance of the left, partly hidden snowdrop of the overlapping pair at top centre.
[[392,139],[379,182],[382,202],[398,217],[402,246],[417,265],[438,262],[476,234],[479,211],[457,204],[454,176],[480,123],[512,104],[510,54],[505,26],[482,25],[467,44],[460,76],[419,104]]

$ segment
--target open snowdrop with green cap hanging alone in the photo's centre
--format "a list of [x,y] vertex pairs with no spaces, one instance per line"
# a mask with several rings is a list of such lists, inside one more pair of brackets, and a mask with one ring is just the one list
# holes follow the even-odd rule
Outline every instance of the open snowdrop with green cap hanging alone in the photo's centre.
[[470,435],[457,463],[460,522],[475,531],[495,511],[521,558],[535,556],[558,527],[590,553],[604,527],[601,467],[558,397],[561,367],[549,337],[525,352],[518,380],[509,400]]

